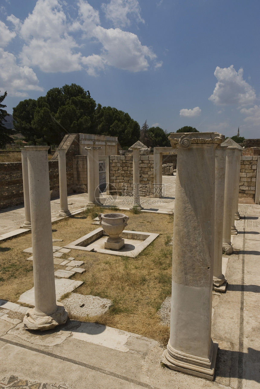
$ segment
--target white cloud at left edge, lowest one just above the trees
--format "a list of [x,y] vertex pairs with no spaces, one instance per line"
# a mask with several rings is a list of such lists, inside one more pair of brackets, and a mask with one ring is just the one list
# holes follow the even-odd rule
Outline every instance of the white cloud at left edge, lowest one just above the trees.
[[0,90],[6,90],[10,96],[28,97],[21,91],[43,91],[38,83],[31,68],[17,65],[15,56],[0,48]]

